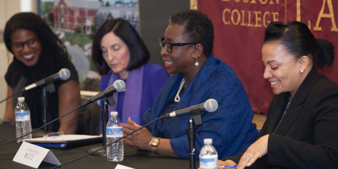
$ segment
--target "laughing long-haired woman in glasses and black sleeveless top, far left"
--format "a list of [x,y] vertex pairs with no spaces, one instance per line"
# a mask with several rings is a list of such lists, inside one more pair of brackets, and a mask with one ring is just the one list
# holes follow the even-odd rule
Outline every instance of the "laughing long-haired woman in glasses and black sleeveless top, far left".
[[[5,74],[7,96],[19,92],[25,86],[51,74],[67,68],[71,77],[67,81],[54,82],[55,93],[48,95],[47,122],[69,112],[80,103],[80,90],[77,72],[68,59],[68,53],[61,40],[49,26],[34,13],[18,13],[6,23],[3,32],[6,48],[14,55]],[[22,95],[30,109],[32,128],[43,125],[41,88],[24,92]],[[14,107],[17,97],[6,102],[5,119],[15,122]],[[49,124],[48,131],[61,131],[65,134],[75,133],[77,128],[77,111]]]

